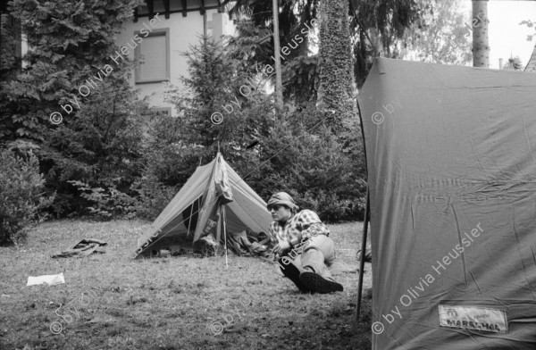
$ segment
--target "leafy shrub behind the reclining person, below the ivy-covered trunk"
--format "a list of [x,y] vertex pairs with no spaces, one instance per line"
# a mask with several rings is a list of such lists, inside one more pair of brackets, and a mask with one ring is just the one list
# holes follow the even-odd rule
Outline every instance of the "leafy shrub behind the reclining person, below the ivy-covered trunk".
[[326,119],[310,108],[274,127],[258,146],[264,165],[247,183],[265,200],[288,192],[301,209],[317,212],[324,222],[361,220],[366,177],[360,133],[350,129],[352,137],[340,137],[322,125]]

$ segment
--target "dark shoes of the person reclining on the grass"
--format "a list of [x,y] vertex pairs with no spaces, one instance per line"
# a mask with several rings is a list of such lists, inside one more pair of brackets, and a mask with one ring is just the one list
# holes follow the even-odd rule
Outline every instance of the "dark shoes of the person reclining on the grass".
[[283,271],[285,277],[294,282],[296,287],[302,293],[328,294],[342,292],[343,290],[342,285],[339,283],[332,279],[323,278],[321,275],[314,273],[313,271],[304,271],[300,273],[297,267],[292,263],[285,265],[284,268],[281,266],[281,271]]

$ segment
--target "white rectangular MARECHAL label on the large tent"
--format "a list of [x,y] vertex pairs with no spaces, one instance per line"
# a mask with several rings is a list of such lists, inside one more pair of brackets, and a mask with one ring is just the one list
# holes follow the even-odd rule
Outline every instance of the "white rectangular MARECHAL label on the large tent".
[[440,305],[440,326],[507,333],[507,312],[482,306]]

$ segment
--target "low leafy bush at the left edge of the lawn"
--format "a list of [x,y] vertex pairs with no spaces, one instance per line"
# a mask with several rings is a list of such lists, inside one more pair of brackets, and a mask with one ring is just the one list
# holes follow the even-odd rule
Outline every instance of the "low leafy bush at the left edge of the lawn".
[[0,153],[0,245],[18,243],[32,224],[44,220],[40,209],[54,201],[54,196],[42,196],[44,184],[33,153]]

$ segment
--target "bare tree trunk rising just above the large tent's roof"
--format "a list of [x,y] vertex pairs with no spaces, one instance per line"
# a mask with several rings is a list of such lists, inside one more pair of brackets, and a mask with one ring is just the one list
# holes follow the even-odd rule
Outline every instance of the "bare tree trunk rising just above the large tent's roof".
[[473,67],[490,67],[488,0],[473,0]]

